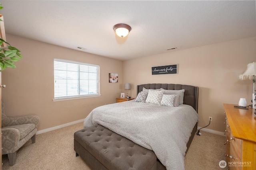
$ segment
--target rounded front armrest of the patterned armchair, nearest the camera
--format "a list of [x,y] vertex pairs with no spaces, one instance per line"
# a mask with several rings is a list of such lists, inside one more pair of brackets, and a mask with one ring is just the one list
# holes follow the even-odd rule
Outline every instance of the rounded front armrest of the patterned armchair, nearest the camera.
[[15,128],[2,128],[2,154],[15,152],[20,141],[20,131]]

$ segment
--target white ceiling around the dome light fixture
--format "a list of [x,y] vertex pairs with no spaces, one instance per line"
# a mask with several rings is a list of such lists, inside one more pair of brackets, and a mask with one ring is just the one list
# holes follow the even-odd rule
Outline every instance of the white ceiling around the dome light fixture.
[[[7,34],[122,61],[256,36],[255,0],[1,3]],[[132,27],[127,37],[117,23]]]

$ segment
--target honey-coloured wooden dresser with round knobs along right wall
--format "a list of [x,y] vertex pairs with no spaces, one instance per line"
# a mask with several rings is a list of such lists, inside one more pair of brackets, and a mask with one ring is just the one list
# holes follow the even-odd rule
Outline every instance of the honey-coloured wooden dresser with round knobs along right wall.
[[230,170],[256,170],[255,109],[237,109],[223,104],[226,113],[227,167]]

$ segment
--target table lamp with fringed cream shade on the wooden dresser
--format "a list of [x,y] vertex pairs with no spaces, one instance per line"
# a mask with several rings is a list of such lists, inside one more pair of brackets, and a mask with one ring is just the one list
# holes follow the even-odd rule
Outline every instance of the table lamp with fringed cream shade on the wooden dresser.
[[[241,80],[252,80],[252,107],[255,109],[256,107],[256,87],[255,87],[255,82],[256,82],[256,62],[252,62],[247,65],[247,69],[245,70],[244,74],[241,74],[239,76]],[[256,114],[256,111],[254,112]]]

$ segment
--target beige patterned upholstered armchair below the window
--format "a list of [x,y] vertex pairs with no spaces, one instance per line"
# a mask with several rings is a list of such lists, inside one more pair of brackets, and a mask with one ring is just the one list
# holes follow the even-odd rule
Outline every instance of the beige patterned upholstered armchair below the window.
[[7,117],[2,102],[2,154],[8,154],[10,166],[16,162],[16,151],[30,138],[36,142],[38,116]]

